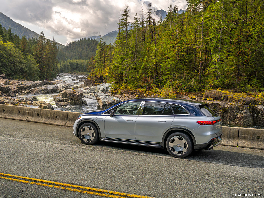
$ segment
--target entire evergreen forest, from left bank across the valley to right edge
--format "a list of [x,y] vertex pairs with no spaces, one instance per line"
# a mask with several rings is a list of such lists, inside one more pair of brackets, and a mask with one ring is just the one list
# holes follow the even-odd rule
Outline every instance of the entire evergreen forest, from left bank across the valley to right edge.
[[[188,0],[185,12],[170,5],[155,18],[152,4],[131,17],[120,12],[113,44],[83,38],[66,46],[21,39],[0,24],[0,73],[15,79],[53,79],[89,73],[115,88],[158,92],[232,89],[264,91],[264,2]],[[168,95],[169,96],[169,95]]]

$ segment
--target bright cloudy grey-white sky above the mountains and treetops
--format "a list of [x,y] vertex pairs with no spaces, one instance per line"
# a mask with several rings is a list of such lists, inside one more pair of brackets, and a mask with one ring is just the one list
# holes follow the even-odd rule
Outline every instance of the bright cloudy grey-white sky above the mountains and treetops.
[[[144,1],[153,10],[168,10],[170,4],[186,10],[186,0]],[[0,0],[0,12],[34,32],[44,32],[66,44],[83,37],[105,35],[117,30],[119,11],[129,6],[131,21],[142,12],[142,0]]]

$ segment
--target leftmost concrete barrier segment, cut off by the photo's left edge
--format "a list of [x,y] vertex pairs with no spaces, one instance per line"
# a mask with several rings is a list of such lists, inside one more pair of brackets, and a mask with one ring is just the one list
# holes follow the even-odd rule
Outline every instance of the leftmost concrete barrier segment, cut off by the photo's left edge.
[[29,107],[0,105],[0,117],[13,120],[27,120]]

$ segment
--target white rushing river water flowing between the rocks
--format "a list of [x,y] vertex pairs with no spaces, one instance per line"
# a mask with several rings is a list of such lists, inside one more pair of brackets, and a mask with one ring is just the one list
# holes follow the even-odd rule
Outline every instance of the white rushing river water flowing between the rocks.
[[[76,80],[76,78],[78,77],[83,77],[85,75],[81,75],[81,74],[58,74],[57,77],[53,80],[63,80],[66,83],[74,83],[76,85],[81,85],[83,84],[83,82],[81,82],[82,80],[78,79]],[[83,88],[79,88],[82,89]],[[84,91],[85,93],[85,91]],[[84,100],[86,100],[87,105],[75,105],[75,106],[66,106],[66,107],[57,107],[55,105],[55,102],[53,100],[53,95],[57,95],[58,93],[51,93],[51,94],[36,94],[36,95],[32,95],[32,94],[27,94],[27,95],[22,95],[21,97],[29,97],[29,96],[36,96],[38,101],[44,100],[45,102],[49,102],[53,107],[54,110],[61,110],[61,111],[72,111],[72,112],[81,112],[81,113],[85,113],[87,111],[95,111],[95,110],[99,110],[100,107],[98,107],[98,103],[97,100],[93,100],[90,98],[86,98],[83,97]],[[33,106],[33,105],[25,105],[26,107],[34,107],[34,108],[38,108],[38,106]]]

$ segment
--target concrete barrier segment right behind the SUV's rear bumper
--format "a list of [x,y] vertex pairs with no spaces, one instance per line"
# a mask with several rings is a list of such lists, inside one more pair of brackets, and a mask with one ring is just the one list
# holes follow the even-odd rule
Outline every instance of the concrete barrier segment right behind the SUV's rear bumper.
[[222,126],[222,128],[222,143],[220,145],[237,147],[239,128],[230,126]]

